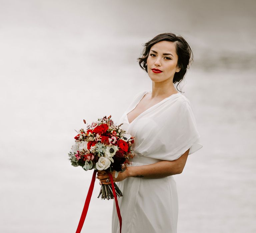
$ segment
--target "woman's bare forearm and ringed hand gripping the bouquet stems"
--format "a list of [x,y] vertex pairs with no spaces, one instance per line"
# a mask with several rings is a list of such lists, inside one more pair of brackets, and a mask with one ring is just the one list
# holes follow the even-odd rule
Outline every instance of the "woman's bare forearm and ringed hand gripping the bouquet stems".
[[[169,175],[180,174],[186,164],[189,149],[178,159],[172,161],[160,161],[153,164],[142,166],[130,166],[124,172],[119,172],[117,178],[114,177],[115,171],[112,171],[114,182],[124,180],[127,177],[144,177],[144,178],[162,178]],[[103,184],[111,184],[106,182],[109,178],[105,171],[98,171],[97,178]]]

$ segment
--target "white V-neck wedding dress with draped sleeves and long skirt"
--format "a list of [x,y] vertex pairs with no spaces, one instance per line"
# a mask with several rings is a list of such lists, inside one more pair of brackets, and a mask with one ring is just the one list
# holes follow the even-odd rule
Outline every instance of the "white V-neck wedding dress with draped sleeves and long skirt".
[[[135,136],[132,166],[175,160],[189,148],[189,154],[202,147],[199,133],[188,99],[173,94],[150,107],[131,123],[131,112],[147,91],[135,96],[117,124]],[[129,177],[117,182],[123,196],[118,199],[122,216],[122,233],[176,233],[178,196],[173,176],[148,179]],[[112,233],[120,226],[115,202],[112,214]]]

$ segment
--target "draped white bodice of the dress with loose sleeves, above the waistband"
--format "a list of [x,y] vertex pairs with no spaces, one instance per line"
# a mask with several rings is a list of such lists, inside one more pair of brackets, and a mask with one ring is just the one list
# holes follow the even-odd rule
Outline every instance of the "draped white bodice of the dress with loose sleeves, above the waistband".
[[189,154],[199,150],[200,135],[189,100],[180,93],[173,94],[150,107],[131,123],[126,117],[144,96],[140,92],[120,119],[127,133],[135,136],[132,150],[140,157],[175,160],[188,149]]

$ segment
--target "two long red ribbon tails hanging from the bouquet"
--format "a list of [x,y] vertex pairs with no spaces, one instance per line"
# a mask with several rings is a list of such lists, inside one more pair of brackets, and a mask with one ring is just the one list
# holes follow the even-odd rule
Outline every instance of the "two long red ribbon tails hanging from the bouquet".
[[[93,191],[93,188],[94,188],[96,173],[97,173],[97,171],[94,170],[93,175],[92,175],[92,181],[91,181],[91,184],[90,184],[90,187],[89,187],[86,199],[85,199],[84,208],[83,208],[83,211],[82,211],[79,223],[78,223],[78,227],[76,229],[76,233],[80,233],[81,230],[82,230],[82,227],[84,225],[84,220],[85,220],[85,217],[86,217],[86,214],[87,214],[87,211],[88,211],[88,208],[89,208],[90,200],[91,200],[91,197],[92,197],[92,191]],[[121,213],[120,213],[120,209],[119,209],[119,205],[118,205],[118,201],[117,201],[117,196],[116,196],[116,190],[115,190],[115,187],[114,187],[113,177],[112,177],[110,172],[107,171],[107,173],[108,173],[109,178],[111,180],[112,191],[113,191],[115,202],[116,202],[116,211],[117,211],[117,215],[118,215],[118,218],[119,218],[120,233],[121,233],[122,217],[121,217]]]

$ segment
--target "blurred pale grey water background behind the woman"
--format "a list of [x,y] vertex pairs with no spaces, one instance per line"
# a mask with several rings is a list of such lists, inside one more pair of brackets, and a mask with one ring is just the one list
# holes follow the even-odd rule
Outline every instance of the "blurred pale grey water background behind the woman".
[[[159,33],[194,53],[183,83],[203,148],[175,175],[179,233],[256,232],[255,1],[0,0],[0,231],[75,232],[92,171],[67,153],[87,122],[151,90],[136,61]],[[95,183],[83,232],[110,232]],[[146,195],[146,194],[145,194]]]

